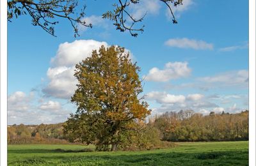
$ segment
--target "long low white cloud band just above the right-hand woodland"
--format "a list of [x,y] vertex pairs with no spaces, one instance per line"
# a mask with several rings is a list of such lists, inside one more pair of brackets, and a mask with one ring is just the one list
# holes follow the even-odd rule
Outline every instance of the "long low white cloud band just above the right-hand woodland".
[[[150,108],[153,110],[152,114],[162,114],[163,112],[170,111],[179,112],[180,110],[194,110],[195,112],[206,115],[212,111],[216,114],[220,114],[223,111],[237,113],[241,112],[241,110],[247,109],[246,107],[237,108],[237,96],[244,95],[230,94],[220,96],[217,94],[212,94],[205,96],[204,94],[193,93],[185,96],[182,94],[170,94],[165,91],[152,91],[146,94],[145,100],[147,100],[150,105],[156,105],[156,103],[159,105],[158,107]],[[220,107],[219,104],[221,104],[221,101],[225,100],[226,98],[232,98],[234,100],[231,100],[230,103],[228,103],[225,107]]]

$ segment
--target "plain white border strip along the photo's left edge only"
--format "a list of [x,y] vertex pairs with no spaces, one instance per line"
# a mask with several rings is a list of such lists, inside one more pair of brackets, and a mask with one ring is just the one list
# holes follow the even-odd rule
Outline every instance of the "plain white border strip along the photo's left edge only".
[[1,0],[0,4],[0,36],[1,36],[1,89],[0,89],[0,161],[1,165],[7,165],[7,1]]

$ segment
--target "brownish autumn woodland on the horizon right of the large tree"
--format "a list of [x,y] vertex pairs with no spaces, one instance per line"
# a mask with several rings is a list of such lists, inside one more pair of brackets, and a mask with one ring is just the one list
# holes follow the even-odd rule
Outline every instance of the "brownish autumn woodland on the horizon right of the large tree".
[[211,112],[207,116],[180,110],[150,118],[148,125],[160,131],[161,140],[172,142],[248,140],[248,119],[248,110],[239,114]]

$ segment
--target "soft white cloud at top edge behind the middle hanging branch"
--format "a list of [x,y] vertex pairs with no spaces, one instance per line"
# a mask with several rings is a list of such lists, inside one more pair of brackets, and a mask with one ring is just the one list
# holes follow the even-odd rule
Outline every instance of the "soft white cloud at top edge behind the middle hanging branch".
[[131,4],[131,15],[135,19],[141,19],[147,13],[147,15],[156,15],[161,8],[158,0],[141,0],[138,4]]

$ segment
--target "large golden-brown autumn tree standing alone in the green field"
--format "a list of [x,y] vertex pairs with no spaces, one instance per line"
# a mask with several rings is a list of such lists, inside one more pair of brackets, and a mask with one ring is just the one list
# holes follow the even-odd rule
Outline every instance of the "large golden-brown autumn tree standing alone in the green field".
[[143,96],[139,98],[139,71],[125,49],[116,46],[93,50],[92,57],[76,64],[78,84],[71,101],[77,111],[64,125],[68,138],[96,144],[98,151],[115,151],[124,143],[127,132],[138,129],[150,114]]

